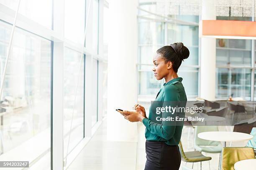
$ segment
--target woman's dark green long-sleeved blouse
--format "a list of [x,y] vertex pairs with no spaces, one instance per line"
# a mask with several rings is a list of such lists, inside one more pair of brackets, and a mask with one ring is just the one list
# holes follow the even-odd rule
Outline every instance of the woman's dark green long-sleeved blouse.
[[[146,140],[164,141],[167,145],[178,145],[184,121],[175,121],[176,117],[184,117],[185,112],[168,110],[161,113],[157,112],[156,106],[160,107],[186,107],[187,96],[182,85],[182,77],[177,77],[164,83],[156,96],[156,100],[151,103],[149,108],[148,119],[143,119],[143,124],[146,126]],[[174,121],[161,121],[161,118],[173,117]],[[166,119],[167,120],[167,119]],[[179,119],[180,120],[180,119]]]

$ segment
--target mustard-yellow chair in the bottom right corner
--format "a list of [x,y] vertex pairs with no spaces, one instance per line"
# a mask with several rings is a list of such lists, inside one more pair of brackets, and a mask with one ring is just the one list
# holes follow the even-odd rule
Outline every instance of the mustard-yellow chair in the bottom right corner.
[[255,159],[253,148],[224,147],[221,152],[220,170],[234,170],[236,162],[246,159]]

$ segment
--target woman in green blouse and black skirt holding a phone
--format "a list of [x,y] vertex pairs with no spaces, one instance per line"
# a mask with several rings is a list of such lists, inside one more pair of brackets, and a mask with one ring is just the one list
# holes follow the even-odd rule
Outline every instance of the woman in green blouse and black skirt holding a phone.
[[[185,107],[187,96],[182,85],[182,77],[177,75],[182,61],[189,57],[189,50],[182,42],[161,47],[153,58],[154,75],[157,80],[165,79],[164,86],[151,103],[149,116],[143,106],[135,105],[136,111],[126,111],[125,119],[131,122],[142,122],[146,126],[146,165],[145,170],[179,170],[181,155],[179,141],[183,121],[177,122],[175,117],[184,117],[184,112],[168,112],[169,107]],[[159,111],[157,106],[166,108]],[[159,112],[156,112],[159,111]],[[173,117],[174,119],[163,119]]]

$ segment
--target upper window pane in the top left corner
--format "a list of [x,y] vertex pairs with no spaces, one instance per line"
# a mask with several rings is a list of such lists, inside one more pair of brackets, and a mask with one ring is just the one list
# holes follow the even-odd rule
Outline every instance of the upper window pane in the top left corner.
[[[19,0],[0,0],[0,3],[17,10]],[[52,0],[21,0],[19,13],[31,20],[52,27]]]

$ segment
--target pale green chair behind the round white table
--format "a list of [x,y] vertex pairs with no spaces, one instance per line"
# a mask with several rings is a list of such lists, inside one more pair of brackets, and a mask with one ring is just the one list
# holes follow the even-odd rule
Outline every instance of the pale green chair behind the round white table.
[[[218,131],[218,126],[197,126],[195,128],[195,150],[205,153],[221,153],[222,145],[218,141],[204,140],[198,138],[198,133]],[[220,158],[219,158],[220,164]]]

